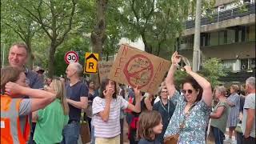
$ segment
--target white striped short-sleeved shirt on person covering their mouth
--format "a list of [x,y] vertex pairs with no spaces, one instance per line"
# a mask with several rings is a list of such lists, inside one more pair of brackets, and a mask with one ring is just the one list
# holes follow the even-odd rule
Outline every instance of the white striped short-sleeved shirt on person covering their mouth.
[[110,115],[107,122],[104,122],[99,112],[105,109],[106,100],[104,98],[96,97],[93,102],[94,114],[94,135],[98,138],[114,138],[121,133],[120,131],[120,110],[125,110],[128,102],[118,96],[110,102]]

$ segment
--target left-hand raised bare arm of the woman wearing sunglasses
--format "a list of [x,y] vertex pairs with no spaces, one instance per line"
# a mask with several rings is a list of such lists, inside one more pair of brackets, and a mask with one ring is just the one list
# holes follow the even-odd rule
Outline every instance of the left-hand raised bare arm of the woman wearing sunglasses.
[[177,70],[178,62],[180,61],[181,61],[181,58],[178,56],[178,52],[175,51],[171,57],[172,63],[166,77],[166,88],[168,90],[168,93],[170,94],[170,98],[173,97],[174,92],[176,90],[174,85],[174,73]]

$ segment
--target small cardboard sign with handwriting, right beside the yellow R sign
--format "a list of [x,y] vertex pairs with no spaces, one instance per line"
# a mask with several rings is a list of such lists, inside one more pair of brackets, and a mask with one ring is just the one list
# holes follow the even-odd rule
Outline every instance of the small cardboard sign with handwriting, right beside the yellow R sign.
[[102,80],[102,78],[108,78],[110,74],[110,69],[113,66],[113,63],[114,63],[113,61],[98,62],[98,74],[99,74],[100,80]]

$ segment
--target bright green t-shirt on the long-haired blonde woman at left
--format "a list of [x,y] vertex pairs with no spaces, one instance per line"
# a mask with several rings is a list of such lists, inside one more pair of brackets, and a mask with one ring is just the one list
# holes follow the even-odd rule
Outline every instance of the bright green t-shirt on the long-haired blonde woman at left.
[[38,122],[34,130],[34,141],[37,144],[53,144],[62,142],[62,130],[69,121],[64,115],[62,104],[55,99],[50,105],[38,110]]

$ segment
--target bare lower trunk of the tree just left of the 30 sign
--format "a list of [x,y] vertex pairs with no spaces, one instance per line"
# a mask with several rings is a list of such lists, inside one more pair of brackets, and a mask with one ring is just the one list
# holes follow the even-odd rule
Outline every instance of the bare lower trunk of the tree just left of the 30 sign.
[[56,51],[56,46],[54,42],[50,43],[50,50],[49,50],[49,62],[48,62],[48,77],[53,78],[54,76],[54,54]]

